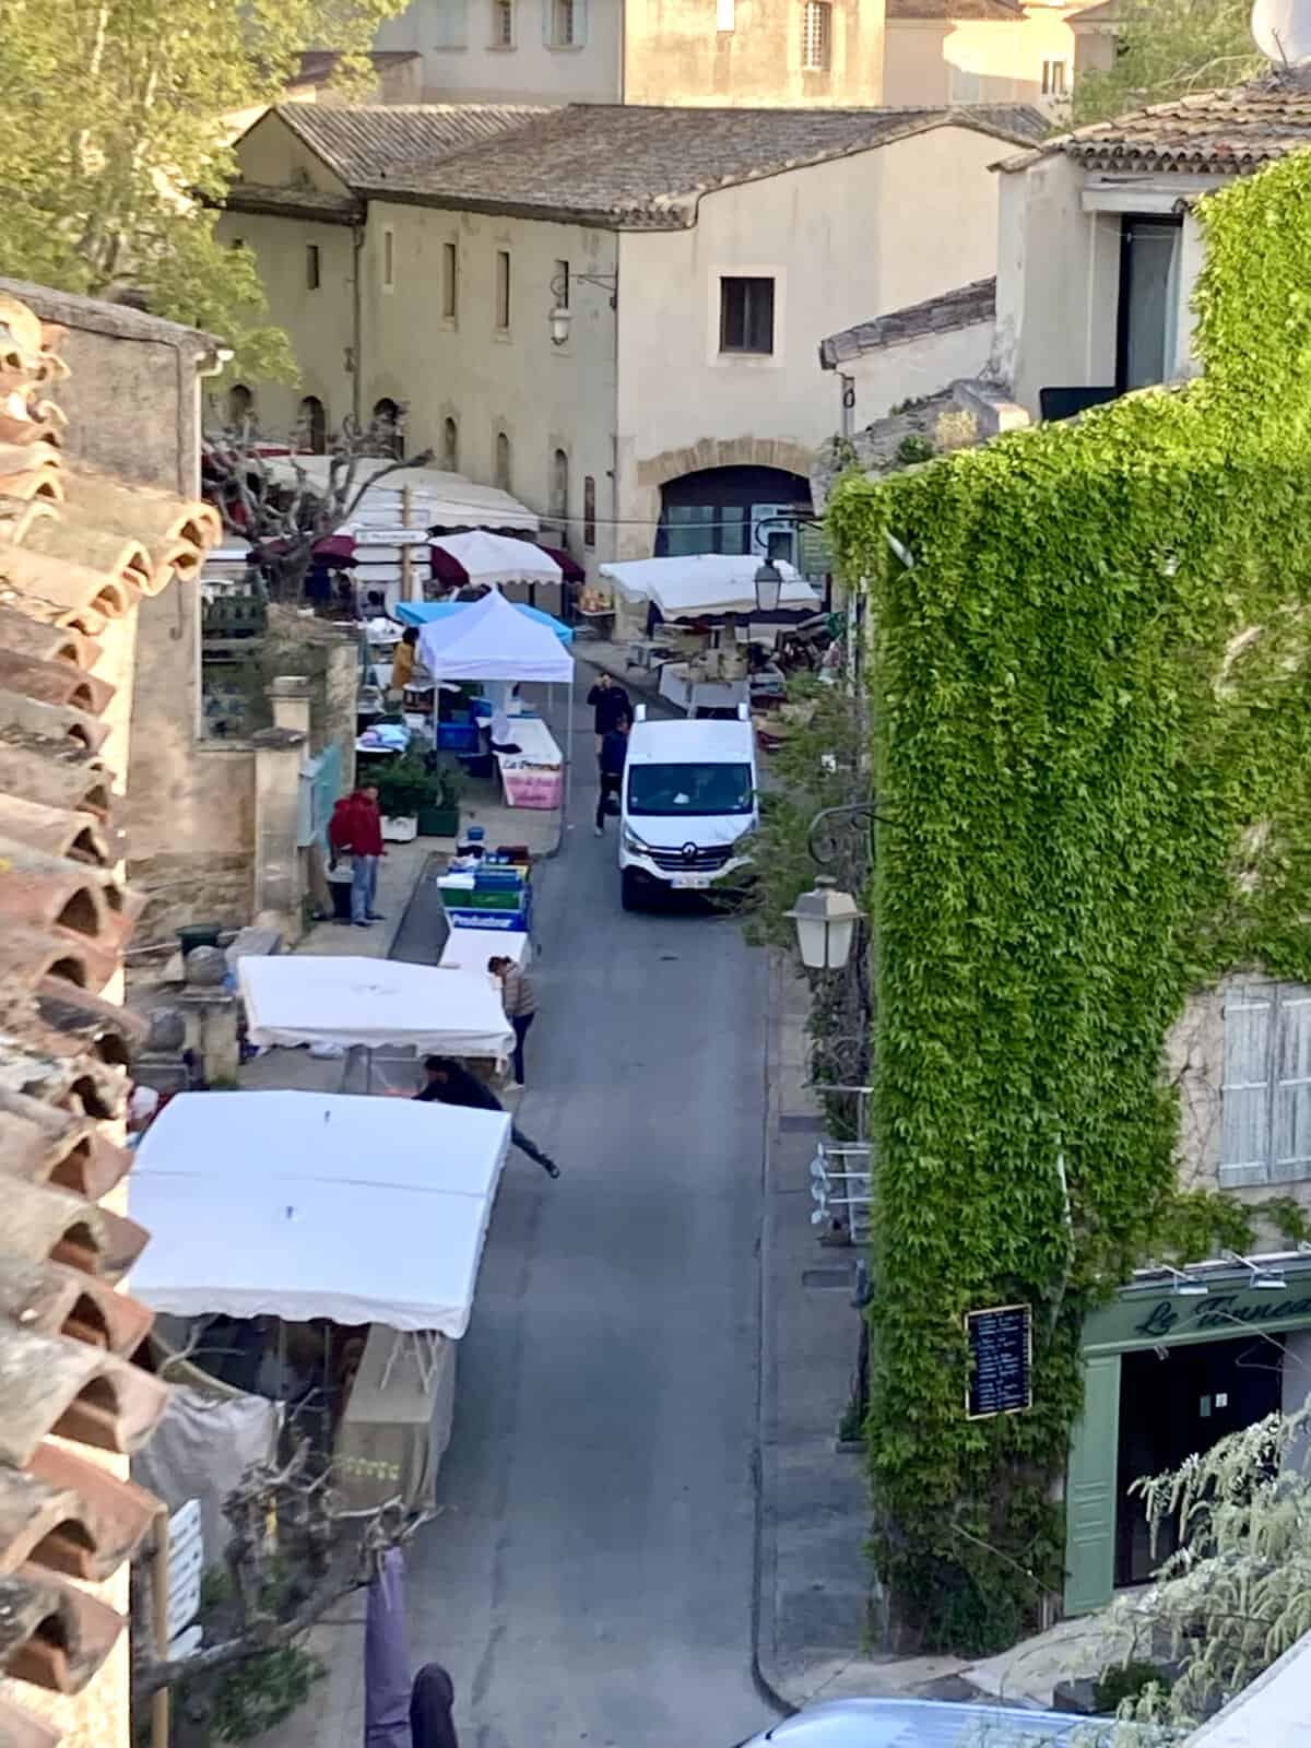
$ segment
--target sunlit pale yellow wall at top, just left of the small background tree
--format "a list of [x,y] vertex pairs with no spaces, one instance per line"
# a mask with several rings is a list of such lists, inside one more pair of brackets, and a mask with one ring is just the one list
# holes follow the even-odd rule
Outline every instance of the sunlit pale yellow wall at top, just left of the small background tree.
[[1030,7],[1023,19],[890,19],[884,103],[1037,103],[1052,117],[1068,100],[1045,98],[1042,63],[1065,61],[1073,86],[1070,10]]

